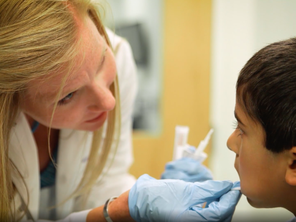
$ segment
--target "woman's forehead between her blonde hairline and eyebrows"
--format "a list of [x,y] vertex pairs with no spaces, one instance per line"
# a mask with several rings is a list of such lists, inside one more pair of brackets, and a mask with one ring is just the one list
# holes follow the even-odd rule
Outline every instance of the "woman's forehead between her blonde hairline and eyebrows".
[[81,27],[81,52],[75,58],[71,71],[69,72],[69,68],[66,68],[32,80],[28,90],[30,96],[43,101],[53,101],[62,86],[63,92],[75,91],[89,80],[91,74],[96,72],[104,54],[106,42],[90,18],[84,24]]

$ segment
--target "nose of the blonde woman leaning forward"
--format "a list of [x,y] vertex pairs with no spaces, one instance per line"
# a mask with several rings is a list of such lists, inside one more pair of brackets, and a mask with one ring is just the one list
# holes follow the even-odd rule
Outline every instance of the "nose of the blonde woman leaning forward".
[[95,86],[93,90],[91,90],[93,96],[91,96],[91,101],[89,105],[90,111],[110,111],[115,107],[115,98],[108,87],[100,87]]

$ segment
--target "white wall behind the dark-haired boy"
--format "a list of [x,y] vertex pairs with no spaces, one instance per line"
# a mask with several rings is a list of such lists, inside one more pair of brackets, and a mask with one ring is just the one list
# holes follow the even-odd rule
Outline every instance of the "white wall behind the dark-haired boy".
[[[239,70],[258,49],[296,35],[295,0],[213,0],[211,115],[213,155],[210,168],[215,179],[237,181],[235,154],[226,147],[232,133],[235,84]],[[286,221],[293,215],[285,209],[255,209],[242,196],[234,221]]]

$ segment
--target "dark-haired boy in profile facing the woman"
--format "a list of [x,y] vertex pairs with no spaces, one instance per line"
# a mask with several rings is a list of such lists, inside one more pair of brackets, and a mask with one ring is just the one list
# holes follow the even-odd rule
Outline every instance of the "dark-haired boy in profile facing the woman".
[[[237,80],[235,152],[241,192],[257,208],[296,214],[296,38],[270,44]],[[296,218],[295,218],[296,220]]]

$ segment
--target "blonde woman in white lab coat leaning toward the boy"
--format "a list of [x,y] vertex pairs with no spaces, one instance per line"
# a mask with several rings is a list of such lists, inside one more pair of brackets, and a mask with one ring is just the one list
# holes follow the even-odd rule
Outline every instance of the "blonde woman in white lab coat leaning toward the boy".
[[[135,65],[129,45],[107,35],[98,12],[88,0],[0,1],[2,221],[133,221],[140,205],[153,205],[139,203],[147,191],[123,193],[135,182],[127,173]],[[192,184],[171,182],[179,194]],[[235,193],[235,206],[233,183],[217,183],[216,195],[209,186],[212,192],[202,196],[209,197],[199,201]],[[104,208],[113,195],[120,197]]]

